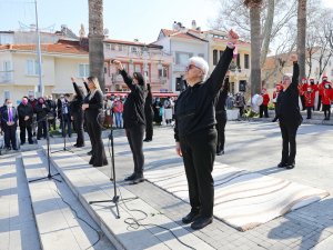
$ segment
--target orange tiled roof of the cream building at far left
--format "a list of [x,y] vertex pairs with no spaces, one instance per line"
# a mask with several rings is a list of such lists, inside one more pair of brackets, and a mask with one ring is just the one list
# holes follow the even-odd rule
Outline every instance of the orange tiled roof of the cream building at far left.
[[[36,44],[6,44],[0,46],[1,50],[17,50],[17,51],[36,51]],[[88,50],[79,44],[77,41],[59,40],[57,43],[41,44],[42,52],[50,53],[71,53],[71,54],[88,54]]]

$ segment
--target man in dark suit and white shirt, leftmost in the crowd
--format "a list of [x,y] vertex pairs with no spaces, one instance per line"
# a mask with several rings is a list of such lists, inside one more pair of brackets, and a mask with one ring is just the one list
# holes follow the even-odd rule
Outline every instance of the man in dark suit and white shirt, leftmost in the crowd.
[[13,150],[18,150],[18,112],[17,109],[12,107],[12,101],[10,99],[7,99],[6,106],[3,106],[3,108],[1,109],[1,126],[4,133],[4,147],[7,148],[7,150],[10,150],[10,148],[12,148]]

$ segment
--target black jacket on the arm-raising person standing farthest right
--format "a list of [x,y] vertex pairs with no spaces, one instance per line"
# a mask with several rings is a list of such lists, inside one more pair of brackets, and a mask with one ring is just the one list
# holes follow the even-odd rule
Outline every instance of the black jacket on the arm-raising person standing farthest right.
[[292,82],[285,91],[281,91],[276,100],[276,118],[286,126],[299,126],[302,116],[299,107],[299,63],[294,62]]

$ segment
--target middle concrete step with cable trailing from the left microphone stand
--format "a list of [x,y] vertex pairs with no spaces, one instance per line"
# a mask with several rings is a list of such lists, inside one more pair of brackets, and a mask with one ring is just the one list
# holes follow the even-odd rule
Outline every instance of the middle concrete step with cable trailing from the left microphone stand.
[[[48,160],[41,150],[23,152],[22,162],[29,181],[42,178],[28,183],[42,249],[114,249],[65,182],[46,178]],[[53,178],[61,181],[61,176]]]

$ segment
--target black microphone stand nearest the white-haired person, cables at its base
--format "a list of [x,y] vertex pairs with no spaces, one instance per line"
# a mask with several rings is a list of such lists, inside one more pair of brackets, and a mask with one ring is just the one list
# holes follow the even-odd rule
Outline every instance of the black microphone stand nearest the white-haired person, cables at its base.
[[[112,114],[112,112],[111,112],[111,114]],[[111,177],[110,177],[110,181],[113,181],[113,198],[112,198],[112,200],[89,201],[89,203],[90,204],[94,204],[94,203],[113,202],[115,204],[115,209],[117,209],[117,219],[120,219],[119,207],[118,207],[119,196],[117,194],[117,183],[115,183],[114,146],[113,146],[113,128],[112,128],[112,122],[111,122],[111,127],[110,127],[109,141],[111,142],[111,167],[110,167],[110,169],[111,169]]]

